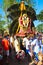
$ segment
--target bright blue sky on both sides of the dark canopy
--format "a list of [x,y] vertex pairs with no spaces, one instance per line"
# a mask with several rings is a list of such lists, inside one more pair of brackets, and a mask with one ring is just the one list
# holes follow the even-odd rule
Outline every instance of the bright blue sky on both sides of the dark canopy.
[[[43,0],[35,0],[36,1],[36,14],[39,14],[41,10],[43,10]],[[3,0],[0,0],[0,7],[3,5]],[[3,10],[0,8],[0,14],[2,16],[5,15],[5,13],[3,12]],[[42,22],[39,22],[38,20],[37,21],[34,21],[34,25],[35,27],[38,25],[38,24],[41,24]]]

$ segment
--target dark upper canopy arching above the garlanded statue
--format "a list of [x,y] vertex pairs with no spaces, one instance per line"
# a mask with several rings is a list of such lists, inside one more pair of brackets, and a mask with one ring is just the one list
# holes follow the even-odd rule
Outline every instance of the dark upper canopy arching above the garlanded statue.
[[[32,18],[32,20],[36,20],[37,18],[36,18],[35,10],[32,7],[29,7],[28,5],[25,5],[25,7],[26,7],[26,10],[22,10],[22,13],[27,13]],[[14,18],[17,15],[19,16],[21,13],[20,4],[13,4],[7,9],[7,11],[10,12],[11,16],[13,16]]]

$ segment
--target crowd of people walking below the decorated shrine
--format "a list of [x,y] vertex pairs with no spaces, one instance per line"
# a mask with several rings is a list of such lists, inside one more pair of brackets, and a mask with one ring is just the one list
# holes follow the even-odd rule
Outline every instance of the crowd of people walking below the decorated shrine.
[[3,36],[0,34],[0,60],[5,58],[8,62],[10,53],[13,50],[16,52],[16,59],[19,59],[19,61],[21,56],[22,59],[27,56],[29,63],[33,59],[38,62],[38,53],[43,54],[43,34],[26,34],[25,37],[18,37],[13,34],[10,36],[7,32],[4,32]]

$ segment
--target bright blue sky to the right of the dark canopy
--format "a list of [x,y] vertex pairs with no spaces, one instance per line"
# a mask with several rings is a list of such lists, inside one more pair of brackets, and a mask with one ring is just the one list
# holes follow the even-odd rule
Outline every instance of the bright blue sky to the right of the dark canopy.
[[[41,10],[43,10],[43,0],[36,0],[36,14],[39,14]],[[34,24],[37,26],[38,24],[41,24],[42,22],[35,21]]]

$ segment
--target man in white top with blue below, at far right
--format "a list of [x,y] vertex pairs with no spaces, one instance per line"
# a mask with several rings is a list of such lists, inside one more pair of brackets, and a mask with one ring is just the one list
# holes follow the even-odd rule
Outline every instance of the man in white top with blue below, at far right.
[[40,52],[41,50],[41,35],[38,35],[36,39],[34,39],[32,42],[31,42],[31,46],[32,46],[32,50],[33,50],[33,53],[34,53],[34,58],[35,58],[35,62],[38,62],[38,53]]

